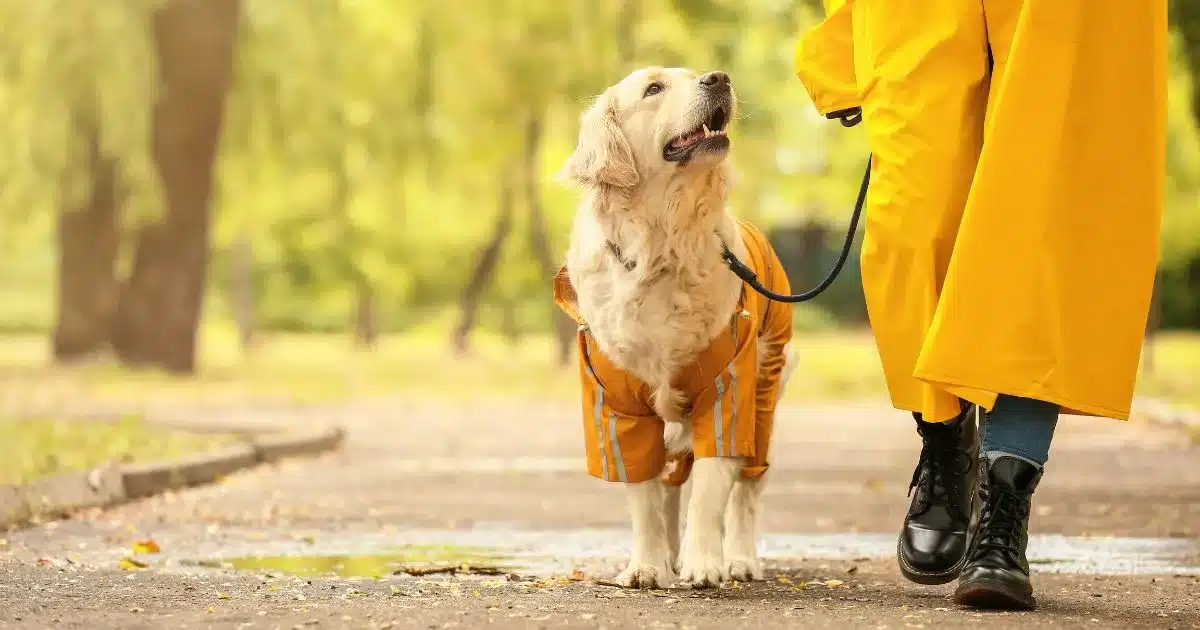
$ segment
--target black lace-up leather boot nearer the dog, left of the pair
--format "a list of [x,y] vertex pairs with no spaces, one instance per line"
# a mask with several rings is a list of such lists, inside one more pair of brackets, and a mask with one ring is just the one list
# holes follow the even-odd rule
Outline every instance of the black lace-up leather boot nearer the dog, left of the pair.
[[896,560],[900,572],[919,584],[953,582],[966,562],[978,478],[976,415],[976,406],[966,404],[952,422],[917,420],[924,444]]

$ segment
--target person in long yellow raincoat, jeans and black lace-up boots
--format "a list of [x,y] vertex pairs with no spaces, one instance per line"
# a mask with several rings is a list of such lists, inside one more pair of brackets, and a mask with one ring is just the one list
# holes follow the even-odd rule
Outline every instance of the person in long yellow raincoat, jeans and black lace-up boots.
[[901,572],[1032,608],[1030,503],[1057,416],[1129,414],[1158,259],[1165,1],[824,4],[797,74],[822,114],[862,114],[863,288],[923,439]]

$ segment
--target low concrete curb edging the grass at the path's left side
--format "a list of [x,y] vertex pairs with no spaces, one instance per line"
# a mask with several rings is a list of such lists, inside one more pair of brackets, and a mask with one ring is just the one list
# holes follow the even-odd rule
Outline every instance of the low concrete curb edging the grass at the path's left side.
[[74,510],[108,508],[169,490],[211,484],[262,463],[330,452],[341,448],[346,437],[338,426],[259,434],[254,433],[260,427],[224,431],[250,436],[242,444],[173,461],[106,464],[23,485],[0,485],[0,530],[58,518]]

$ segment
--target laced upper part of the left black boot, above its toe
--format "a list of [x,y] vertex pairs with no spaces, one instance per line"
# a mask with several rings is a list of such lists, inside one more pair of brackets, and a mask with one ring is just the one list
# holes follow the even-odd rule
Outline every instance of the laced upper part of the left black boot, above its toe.
[[971,470],[971,455],[959,444],[962,433],[962,421],[955,424],[920,424],[918,432],[923,438],[920,458],[912,472],[908,496],[917,491],[913,505],[914,514],[924,512],[935,502],[947,505],[958,518],[966,520],[959,496],[964,478]]

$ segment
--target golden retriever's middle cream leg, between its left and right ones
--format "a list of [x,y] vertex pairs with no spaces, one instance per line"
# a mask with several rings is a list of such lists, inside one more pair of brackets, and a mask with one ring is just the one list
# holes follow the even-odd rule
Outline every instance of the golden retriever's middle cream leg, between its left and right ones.
[[714,587],[728,580],[721,529],[740,457],[702,457],[691,470],[691,500],[679,550],[679,577],[694,587]]

